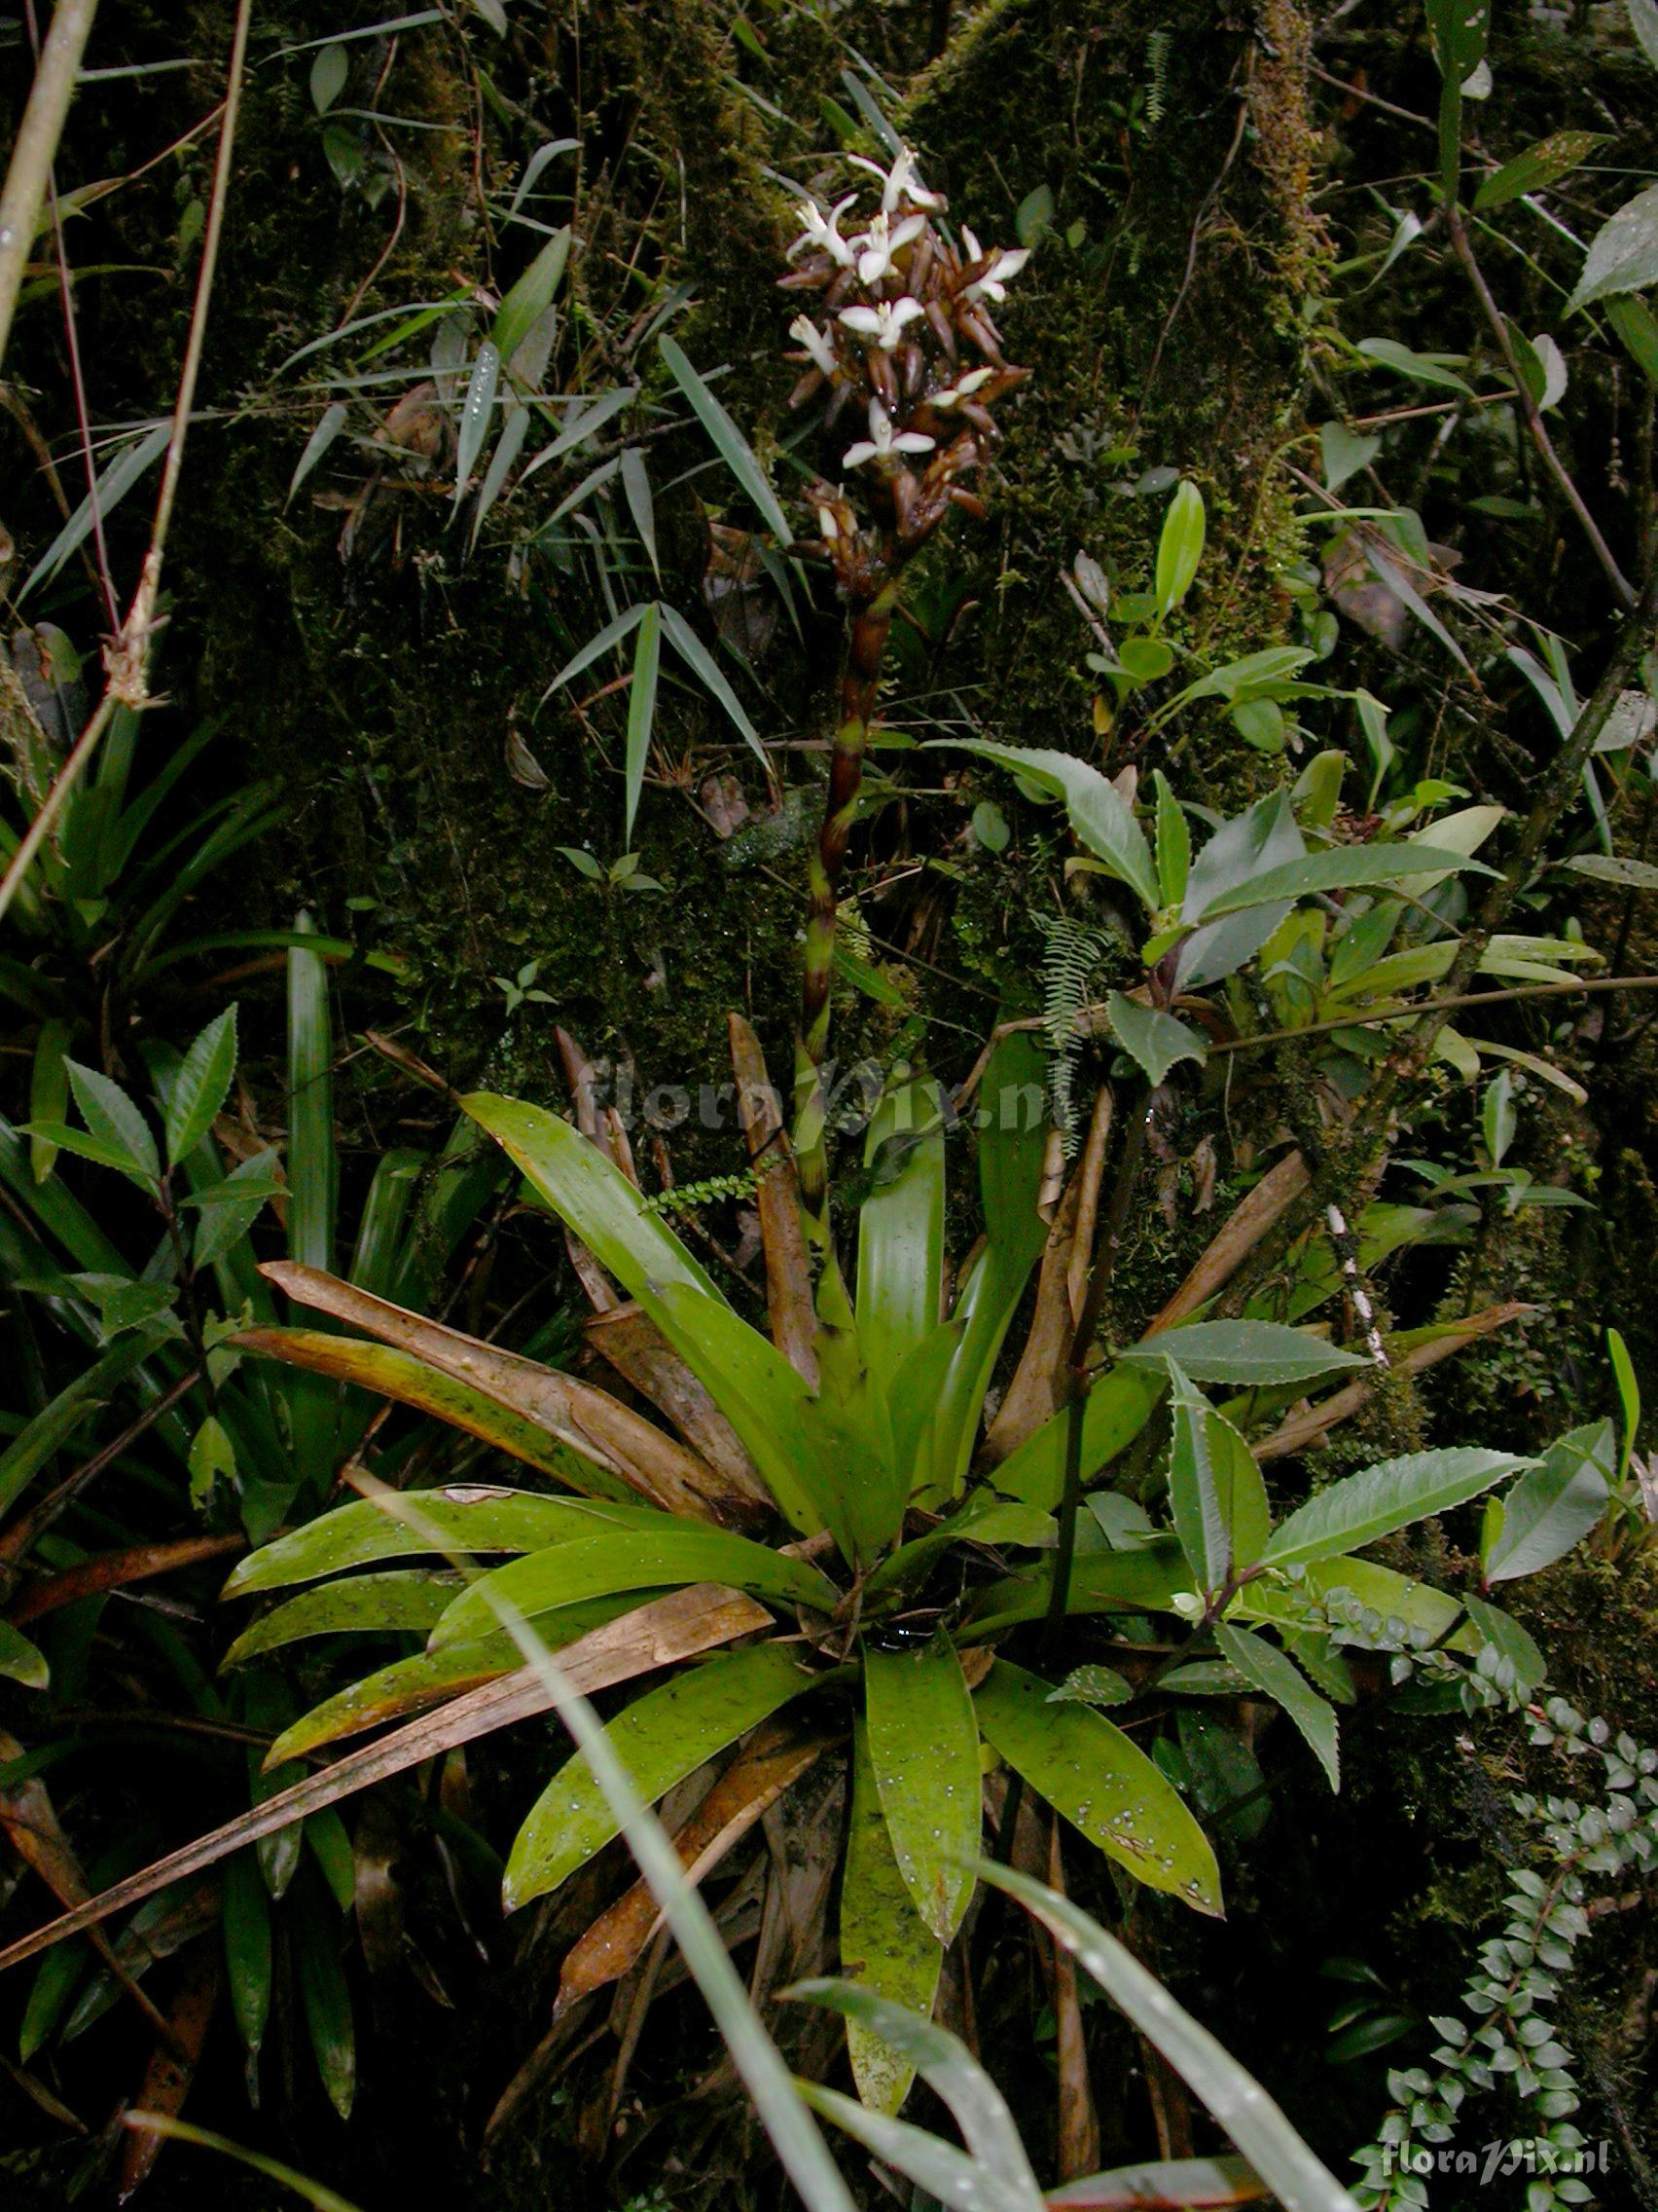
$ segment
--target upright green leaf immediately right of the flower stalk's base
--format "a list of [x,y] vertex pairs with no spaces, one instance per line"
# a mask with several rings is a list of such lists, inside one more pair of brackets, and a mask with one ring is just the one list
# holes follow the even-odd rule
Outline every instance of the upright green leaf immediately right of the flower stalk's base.
[[864,1168],[875,1172],[875,1188],[858,1208],[858,1334],[869,1371],[891,1398],[893,1376],[944,1318],[944,1102],[937,1084],[915,1077],[886,1086],[864,1135]]

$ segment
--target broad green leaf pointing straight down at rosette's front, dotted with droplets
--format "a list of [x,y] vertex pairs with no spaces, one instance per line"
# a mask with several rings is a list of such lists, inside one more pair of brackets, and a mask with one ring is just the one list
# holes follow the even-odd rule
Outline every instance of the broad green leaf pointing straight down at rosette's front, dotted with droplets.
[[951,1942],[979,1856],[979,1723],[955,1646],[864,1646],[864,1712],[886,1836],[915,1911]]

